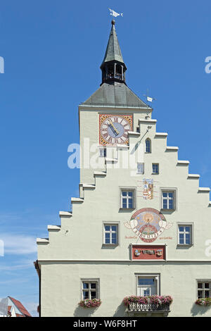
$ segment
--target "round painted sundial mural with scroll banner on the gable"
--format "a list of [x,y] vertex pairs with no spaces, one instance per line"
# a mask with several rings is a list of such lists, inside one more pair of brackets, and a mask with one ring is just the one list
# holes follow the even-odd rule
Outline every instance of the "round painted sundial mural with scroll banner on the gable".
[[124,226],[131,229],[143,242],[154,242],[165,230],[172,227],[165,216],[153,208],[143,208],[132,215]]

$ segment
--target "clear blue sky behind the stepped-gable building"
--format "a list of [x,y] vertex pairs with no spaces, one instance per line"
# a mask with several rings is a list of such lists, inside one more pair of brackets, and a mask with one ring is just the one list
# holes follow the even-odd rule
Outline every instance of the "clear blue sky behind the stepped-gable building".
[[211,56],[209,0],[7,0],[0,8],[1,88],[0,297],[35,314],[36,237],[60,224],[58,211],[78,195],[79,170],[68,145],[79,142],[77,106],[101,83],[101,61],[116,19],[127,85],[156,101],[157,131],[179,146],[200,186],[211,187]]

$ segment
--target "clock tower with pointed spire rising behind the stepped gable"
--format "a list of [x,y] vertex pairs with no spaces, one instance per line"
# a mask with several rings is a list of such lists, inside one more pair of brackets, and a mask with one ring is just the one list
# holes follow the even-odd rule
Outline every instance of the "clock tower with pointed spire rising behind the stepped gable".
[[102,82],[87,101],[79,105],[80,182],[93,180],[94,170],[106,170],[105,158],[117,158],[118,149],[129,147],[129,133],[139,132],[139,118],[153,111],[136,96],[125,79],[127,67],[111,22],[106,54],[101,64]]

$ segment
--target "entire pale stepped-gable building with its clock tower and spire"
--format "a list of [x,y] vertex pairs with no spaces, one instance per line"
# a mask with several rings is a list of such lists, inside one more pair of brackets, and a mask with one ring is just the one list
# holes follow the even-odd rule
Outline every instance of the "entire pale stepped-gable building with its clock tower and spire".
[[[79,197],[37,239],[40,316],[211,316],[195,303],[211,296],[210,188],[127,87],[114,20],[101,70],[79,105]],[[122,302],[156,294],[172,304]],[[94,298],[97,308],[79,306]]]

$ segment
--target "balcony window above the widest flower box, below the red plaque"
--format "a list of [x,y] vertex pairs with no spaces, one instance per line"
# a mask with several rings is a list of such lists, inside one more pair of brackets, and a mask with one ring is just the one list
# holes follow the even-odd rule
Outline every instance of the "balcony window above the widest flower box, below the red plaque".
[[136,293],[139,296],[151,296],[158,294],[158,286],[159,286],[159,276],[153,275],[139,275],[137,276],[137,290]]

